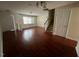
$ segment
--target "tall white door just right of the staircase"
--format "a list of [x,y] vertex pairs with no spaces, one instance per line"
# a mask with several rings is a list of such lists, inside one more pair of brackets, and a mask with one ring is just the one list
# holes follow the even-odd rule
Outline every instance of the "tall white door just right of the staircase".
[[66,37],[70,11],[69,8],[55,9],[54,33],[56,35]]

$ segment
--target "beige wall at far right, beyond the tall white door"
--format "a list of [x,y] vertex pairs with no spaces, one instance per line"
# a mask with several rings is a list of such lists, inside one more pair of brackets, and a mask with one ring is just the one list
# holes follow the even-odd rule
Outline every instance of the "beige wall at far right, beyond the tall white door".
[[71,38],[78,42],[76,51],[79,56],[79,8],[75,7],[71,9],[71,16],[67,29],[67,38]]

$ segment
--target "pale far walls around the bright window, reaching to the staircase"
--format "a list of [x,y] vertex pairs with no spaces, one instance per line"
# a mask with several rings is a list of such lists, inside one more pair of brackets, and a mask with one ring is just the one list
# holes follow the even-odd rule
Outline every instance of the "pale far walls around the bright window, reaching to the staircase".
[[20,24],[20,27],[18,29],[29,28],[33,26],[44,27],[45,26],[44,23],[46,22],[48,18],[48,15],[40,15],[34,19],[34,24],[23,24],[23,16],[27,16],[27,15],[18,14],[18,13],[14,14],[14,19],[15,19],[16,24]]

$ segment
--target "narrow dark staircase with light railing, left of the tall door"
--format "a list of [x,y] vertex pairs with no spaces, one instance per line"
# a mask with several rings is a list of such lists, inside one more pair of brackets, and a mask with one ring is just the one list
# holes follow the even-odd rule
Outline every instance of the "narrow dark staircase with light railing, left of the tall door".
[[46,32],[53,32],[54,12],[55,9],[49,10],[49,17],[44,23]]

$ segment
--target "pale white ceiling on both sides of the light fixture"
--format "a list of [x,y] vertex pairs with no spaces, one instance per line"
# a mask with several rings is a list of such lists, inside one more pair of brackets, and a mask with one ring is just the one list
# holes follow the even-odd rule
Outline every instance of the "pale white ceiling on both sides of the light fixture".
[[[75,1],[48,1],[47,7],[53,9],[56,7],[75,3]],[[44,15],[47,11],[36,7],[36,1],[0,1],[0,10],[11,10],[13,12],[28,15]]]

